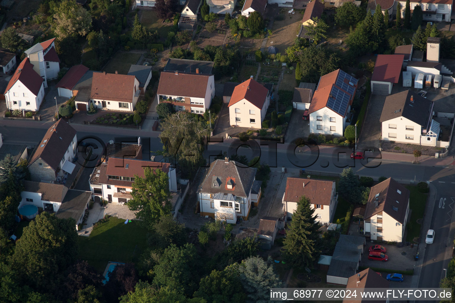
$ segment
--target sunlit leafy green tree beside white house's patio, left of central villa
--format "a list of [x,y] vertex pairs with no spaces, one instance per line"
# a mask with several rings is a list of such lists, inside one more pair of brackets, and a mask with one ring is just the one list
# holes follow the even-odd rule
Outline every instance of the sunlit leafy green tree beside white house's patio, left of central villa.
[[128,202],[128,208],[137,211],[136,216],[152,229],[161,216],[171,211],[169,177],[161,169],[153,171],[144,167],[144,177],[136,176],[131,186],[133,198]]

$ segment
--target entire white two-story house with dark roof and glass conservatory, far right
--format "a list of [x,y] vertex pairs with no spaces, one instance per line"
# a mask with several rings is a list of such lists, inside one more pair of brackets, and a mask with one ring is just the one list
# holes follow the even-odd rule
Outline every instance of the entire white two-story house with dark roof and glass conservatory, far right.
[[385,98],[379,122],[382,139],[436,146],[440,124],[432,119],[434,102],[405,90]]

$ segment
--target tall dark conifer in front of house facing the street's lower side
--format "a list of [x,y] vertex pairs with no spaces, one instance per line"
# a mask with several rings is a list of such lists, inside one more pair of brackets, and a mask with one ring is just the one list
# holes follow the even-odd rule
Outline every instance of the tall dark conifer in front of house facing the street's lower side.
[[285,258],[300,268],[310,266],[320,253],[317,243],[320,224],[310,203],[307,197],[300,198],[283,242]]

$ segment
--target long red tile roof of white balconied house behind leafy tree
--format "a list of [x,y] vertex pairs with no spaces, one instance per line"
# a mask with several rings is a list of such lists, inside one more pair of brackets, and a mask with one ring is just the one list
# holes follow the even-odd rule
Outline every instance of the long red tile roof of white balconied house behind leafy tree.
[[[151,169],[161,169],[163,172],[169,172],[169,163],[127,159],[127,158],[109,158],[107,161],[106,174],[119,177],[144,177],[144,167]],[[128,168],[126,168],[128,167]]]

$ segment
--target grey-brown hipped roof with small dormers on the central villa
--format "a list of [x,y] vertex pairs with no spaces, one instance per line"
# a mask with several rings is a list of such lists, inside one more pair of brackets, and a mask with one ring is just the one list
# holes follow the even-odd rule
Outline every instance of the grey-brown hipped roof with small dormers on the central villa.
[[[242,164],[235,161],[224,162],[225,160],[217,159],[210,164],[210,168],[197,192],[205,194],[226,193],[238,197],[248,197],[258,169],[239,167],[238,165],[241,166]],[[227,184],[231,180],[233,181],[233,188],[228,189]],[[218,187],[214,187],[214,183],[218,183]]]

